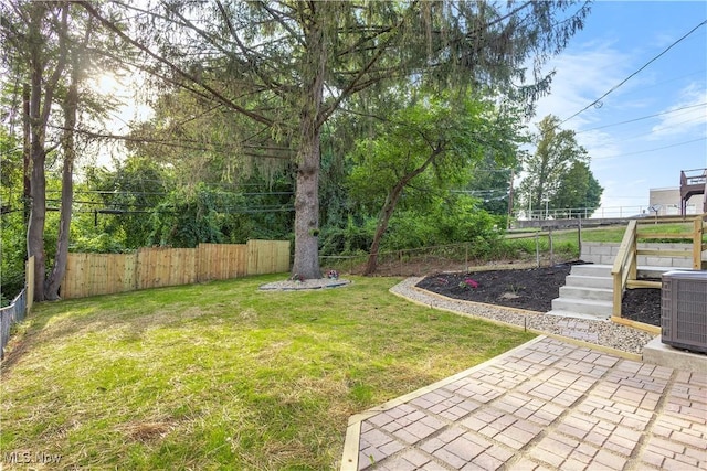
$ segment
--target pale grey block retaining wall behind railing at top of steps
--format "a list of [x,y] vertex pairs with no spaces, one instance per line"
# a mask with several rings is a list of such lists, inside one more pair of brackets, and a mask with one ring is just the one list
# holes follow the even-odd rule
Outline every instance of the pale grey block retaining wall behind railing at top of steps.
[[[619,254],[619,243],[600,243],[600,242],[582,242],[582,253],[580,258],[584,261],[591,261],[592,264],[600,265],[613,265],[616,255]],[[659,244],[659,243],[644,243],[639,244],[639,249],[650,250],[680,250],[686,247],[692,247],[692,244]],[[703,251],[703,265],[707,260],[707,251]],[[671,257],[671,256],[655,256],[655,255],[639,255],[639,267],[671,267],[671,268],[693,268],[692,258],[687,257]]]

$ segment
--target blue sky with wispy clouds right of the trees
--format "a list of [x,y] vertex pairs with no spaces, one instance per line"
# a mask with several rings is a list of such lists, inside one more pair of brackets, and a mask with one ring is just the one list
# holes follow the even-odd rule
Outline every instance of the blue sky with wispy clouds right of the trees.
[[[548,64],[551,94],[531,129],[549,114],[570,118],[705,20],[705,1],[593,3],[584,29]],[[588,150],[606,215],[635,214],[650,189],[676,188],[680,170],[707,168],[707,25],[562,128]]]

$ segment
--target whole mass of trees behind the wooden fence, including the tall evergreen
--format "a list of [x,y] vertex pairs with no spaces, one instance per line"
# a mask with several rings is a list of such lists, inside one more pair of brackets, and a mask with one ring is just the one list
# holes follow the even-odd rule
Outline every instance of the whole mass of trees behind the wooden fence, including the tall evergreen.
[[[384,248],[493,237],[523,122],[549,86],[540,66],[589,11],[148,3],[0,10],[3,165],[22,169],[2,181],[3,205],[22,208],[2,216],[3,247],[35,256],[40,299],[57,297],[70,248],[291,237],[293,271],[316,277],[320,250],[369,251],[372,271]],[[106,72],[144,77],[155,114],[128,136],[102,129],[116,104],[89,83]],[[115,168],[75,174],[82,153],[116,140]]]

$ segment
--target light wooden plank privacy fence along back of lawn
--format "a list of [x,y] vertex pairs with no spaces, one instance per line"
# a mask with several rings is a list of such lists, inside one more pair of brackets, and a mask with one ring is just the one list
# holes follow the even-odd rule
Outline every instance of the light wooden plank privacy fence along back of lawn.
[[63,299],[289,270],[289,242],[140,248],[134,254],[68,254]]

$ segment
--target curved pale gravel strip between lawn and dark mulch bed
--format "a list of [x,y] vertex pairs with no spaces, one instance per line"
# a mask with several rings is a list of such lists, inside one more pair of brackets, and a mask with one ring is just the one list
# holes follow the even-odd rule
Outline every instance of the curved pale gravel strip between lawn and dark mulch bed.
[[431,308],[446,309],[461,314],[473,315],[509,324],[526,327],[540,332],[563,335],[602,345],[623,352],[641,354],[646,343],[654,335],[627,325],[611,321],[595,321],[589,319],[573,319],[544,313],[521,313],[492,304],[464,302],[451,298],[431,295],[429,291],[415,288],[421,277],[408,278],[390,289],[391,292],[412,301],[428,304]]

